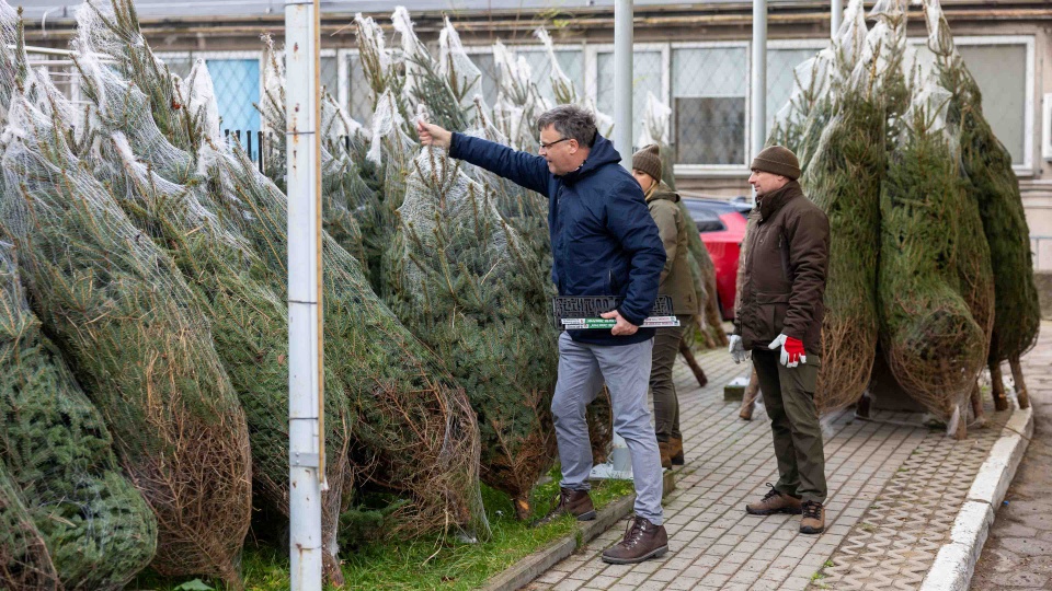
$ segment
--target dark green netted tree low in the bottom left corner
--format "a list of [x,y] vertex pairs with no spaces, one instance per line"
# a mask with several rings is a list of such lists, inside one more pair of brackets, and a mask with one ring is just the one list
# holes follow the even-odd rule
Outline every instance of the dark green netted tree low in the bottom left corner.
[[61,587],[123,589],[153,558],[157,520],[122,474],[101,414],[41,333],[3,243],[0,368],[0,465],[19,488]]

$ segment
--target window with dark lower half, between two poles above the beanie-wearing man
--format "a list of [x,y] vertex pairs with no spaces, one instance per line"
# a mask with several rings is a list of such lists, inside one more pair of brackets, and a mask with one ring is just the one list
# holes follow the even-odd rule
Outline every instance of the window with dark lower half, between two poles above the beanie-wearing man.
[[744,45],[673,49],[672,108],[678,164],[745,165],[747,88]]

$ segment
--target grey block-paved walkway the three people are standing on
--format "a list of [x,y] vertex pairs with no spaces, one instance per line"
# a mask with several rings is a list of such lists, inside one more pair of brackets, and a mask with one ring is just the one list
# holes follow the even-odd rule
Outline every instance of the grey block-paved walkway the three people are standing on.
[[[1050,332],[1047,325],[1043,334]],[[918,588],[1008,412],[987,405],[990,425],[960,442],[923,427],[916,414],[878,412],[873,420],[860,420],[846,410],[825,417],[827,528],[817,536],[801,535],[799,517],[744,511],[778,477],[762,408],[744,421],[737,403],[723,402],[723,384],[747,366],[735,366],[725,351],[699,361],[711,385],[698,389],[685,367],[676,373],[687,465],[665,499],[668,554],[640,565],[607,565],[599,553],[624,535],[615,528],[526,589]]]

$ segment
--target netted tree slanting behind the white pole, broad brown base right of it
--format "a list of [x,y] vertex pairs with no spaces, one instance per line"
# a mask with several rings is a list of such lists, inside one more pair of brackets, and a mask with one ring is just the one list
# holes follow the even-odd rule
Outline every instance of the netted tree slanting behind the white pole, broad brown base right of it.
[[[207,153],[207,152],[206,152]],[[286,197],[237,146],[207,161],[215,199],[286,276]],[[459,525],[485,533],[479,434],[464,390],[376,297],[361,264],[323,234],[325,359],[350,402],[356,486],[404,497],[391,536]],[[285,294],[284,281],[275,286]]]

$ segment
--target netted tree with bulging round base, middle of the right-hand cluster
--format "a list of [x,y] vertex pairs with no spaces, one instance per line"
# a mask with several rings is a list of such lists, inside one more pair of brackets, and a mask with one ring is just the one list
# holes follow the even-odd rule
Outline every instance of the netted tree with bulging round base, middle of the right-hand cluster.
[[933,79],[914,85],[881,186],[880,343],[895,380],[939,418],[958,418],[986,355],[962,297],[958,257],[969,206],[946,109]]

